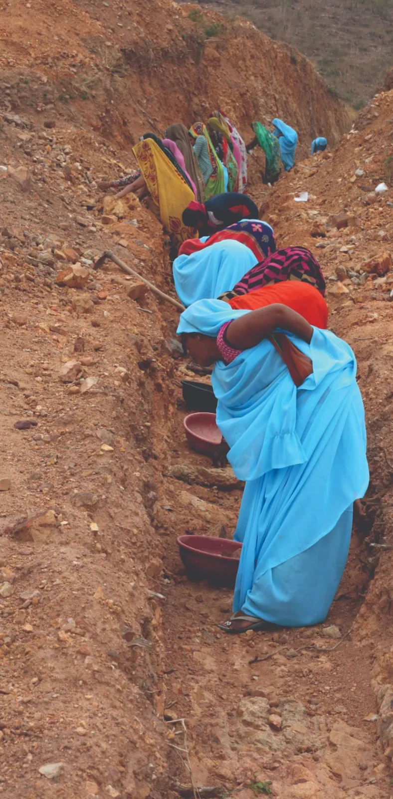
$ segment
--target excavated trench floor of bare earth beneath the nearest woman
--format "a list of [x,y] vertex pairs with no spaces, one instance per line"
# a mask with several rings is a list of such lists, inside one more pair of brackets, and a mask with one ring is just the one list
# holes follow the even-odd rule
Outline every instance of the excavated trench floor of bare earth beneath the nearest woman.
[[[169,281],[161,288],[170,291]],[[161,314],[168,342],[177,316],[162,305]],[[336,316],[335,327],[338,322]],[[161,351],[168,352],[168,345]],[[255,793],[255,786],[247,786],[256,775],[272,781],[274,795],[282,799],[388,797],[375,733],[373,646],[366,638],[360,647],[354,631],[361,629],[359,610],[377,563],[368,547],[375,540],[375,515],[381,513],[372,502],[377,488],[371,488],[367,519],[353,532],[347,568],[323,625],[239,637],[220,633],[216,623],[228,616],[232,592],[190,581],[176,538],[184,533],[232,538],[242,488],[228,464],[217,468],[189,450],[180,380],[195,375],[188,359],[174,355],[158,390],[155,365],[153,372],[152,364],[143,372],[151,427],[139,442],[149,471],[145,507],[163,562],[153,590],[165,596],[162,706],[170,730],[165,790],[170,797],[179,795],[176,788],[181,796],[193,796],[193,786],[202,786],[200,796],[247,799]],[[216,792],[208,793],[212,786]]]

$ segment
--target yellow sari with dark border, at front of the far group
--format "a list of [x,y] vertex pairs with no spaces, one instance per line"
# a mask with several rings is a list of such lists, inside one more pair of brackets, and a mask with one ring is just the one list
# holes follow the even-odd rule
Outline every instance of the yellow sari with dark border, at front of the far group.
[[175,166],[153,139],[138,141],[133,153],[141,167],[141,173],[157,206],[161,224],[169,233],[173,244],[197,236],[193,228],[183,225],[181,215],[190,202],[195,200],[193,190],[185,182]]

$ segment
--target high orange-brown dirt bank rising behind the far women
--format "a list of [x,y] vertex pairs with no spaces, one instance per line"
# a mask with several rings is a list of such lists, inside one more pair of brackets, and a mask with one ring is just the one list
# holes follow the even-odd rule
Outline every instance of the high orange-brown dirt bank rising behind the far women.
[[246,137],[253,119],[284,117],[303,154],[321,131],[335,143],[349,126],[308,59],[299,55],[294,70],[290,49],[243,18],[211,12],[201,24],[196,6],[168,0],[13,8],[3,21],[0,89],[4,109],[35,125],[63,119],[129,147],[147,129],[162,133],[220,105]]

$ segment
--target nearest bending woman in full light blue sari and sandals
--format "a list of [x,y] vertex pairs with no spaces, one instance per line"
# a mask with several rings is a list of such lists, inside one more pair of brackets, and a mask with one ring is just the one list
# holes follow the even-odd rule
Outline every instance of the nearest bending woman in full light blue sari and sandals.
[[197,363],[215,364],[216,423],[246,481],[234,613],[220,629],[323,622],[347,561],[353,506],[368,485],[351,348],[279,304],[234,311],[201,300],[177,332]]

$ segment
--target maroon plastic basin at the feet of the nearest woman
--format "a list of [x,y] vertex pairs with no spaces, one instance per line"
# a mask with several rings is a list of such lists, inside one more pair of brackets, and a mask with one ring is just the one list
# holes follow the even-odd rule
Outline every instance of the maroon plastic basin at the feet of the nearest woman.
[[190,577],[233,588],[239,560],[220,553],[241,549],[240,543],[210,538],[208,535],[180,535],[177,543],[181,560]]

